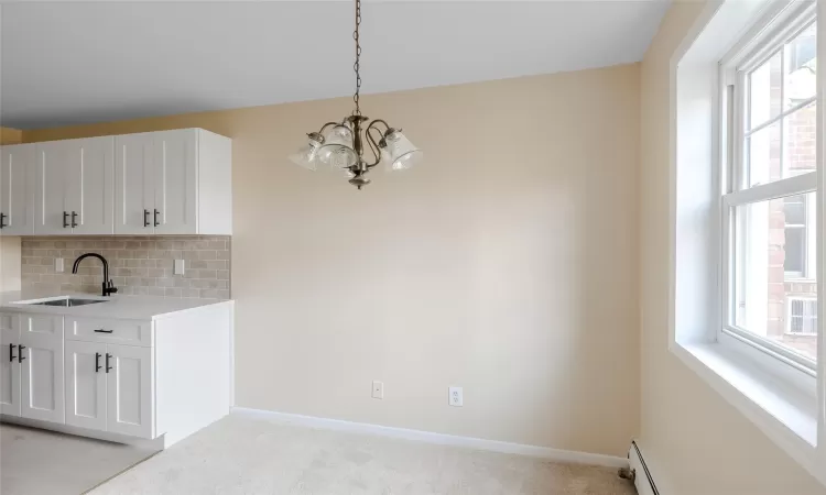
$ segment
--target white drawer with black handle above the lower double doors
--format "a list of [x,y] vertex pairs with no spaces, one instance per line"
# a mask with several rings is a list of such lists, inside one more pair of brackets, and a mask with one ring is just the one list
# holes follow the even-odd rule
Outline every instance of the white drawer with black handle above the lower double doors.
[[152,322],[111,318],[66,317],[66,339],[152,346]]

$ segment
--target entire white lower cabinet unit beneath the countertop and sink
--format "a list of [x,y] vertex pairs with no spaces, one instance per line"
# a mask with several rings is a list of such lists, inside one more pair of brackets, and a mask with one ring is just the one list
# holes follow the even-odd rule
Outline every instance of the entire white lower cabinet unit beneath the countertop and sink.
[[30,427],[166,448],[229,413],[231,324],[231,301],[159,319],[6,309],[0,414]]

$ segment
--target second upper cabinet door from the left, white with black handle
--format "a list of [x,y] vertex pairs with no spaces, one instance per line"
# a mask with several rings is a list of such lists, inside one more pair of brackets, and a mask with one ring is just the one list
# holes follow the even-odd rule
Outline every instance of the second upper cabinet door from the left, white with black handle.
[[[67,164],[72,148],[63,141],[36,146],[34,187],[34,233],[59,235],[72,233],[65,227]],[[70,224],[70,219],[68,219]]]

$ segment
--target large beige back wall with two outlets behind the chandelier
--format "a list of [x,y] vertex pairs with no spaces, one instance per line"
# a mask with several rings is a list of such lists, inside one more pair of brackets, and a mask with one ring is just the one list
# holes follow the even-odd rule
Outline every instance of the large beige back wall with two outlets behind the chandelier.
[[233,139],[238,405],[623,455],[639,419],[639,66],[362,97],[426,160],[361,191],[286,160],[350,103],[24,139]]

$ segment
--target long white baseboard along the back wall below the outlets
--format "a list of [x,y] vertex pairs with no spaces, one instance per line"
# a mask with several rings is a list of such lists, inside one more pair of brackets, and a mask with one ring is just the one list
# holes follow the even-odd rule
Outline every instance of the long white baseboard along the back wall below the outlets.
[[250,409],[246,407],[233,407],[233,415],[246,416],[280,424],[298,425],[308,428],[320,428],[326,430],[348,431],[354,433],[377,435],[381,437],[413,440],[424,443],[436,443],[441,446],[456,446],[469,449],[487,450],[532,458],[547,459],[556,462],[568,462],[577,464],[604,465],[608,468],[628,468],[628,459],[613,455],[576,452],[572,450],[551,449],[548,447],[525,446],[521,443],[500,442],[497,440],[485,440],[481,438],[457,437],[454,435],[433,433],[430,431],[410,430],[406,428],[393,428],[365,422],[344,421],[341,419],[316,418],[313,416],[292,415],[262,409]]

